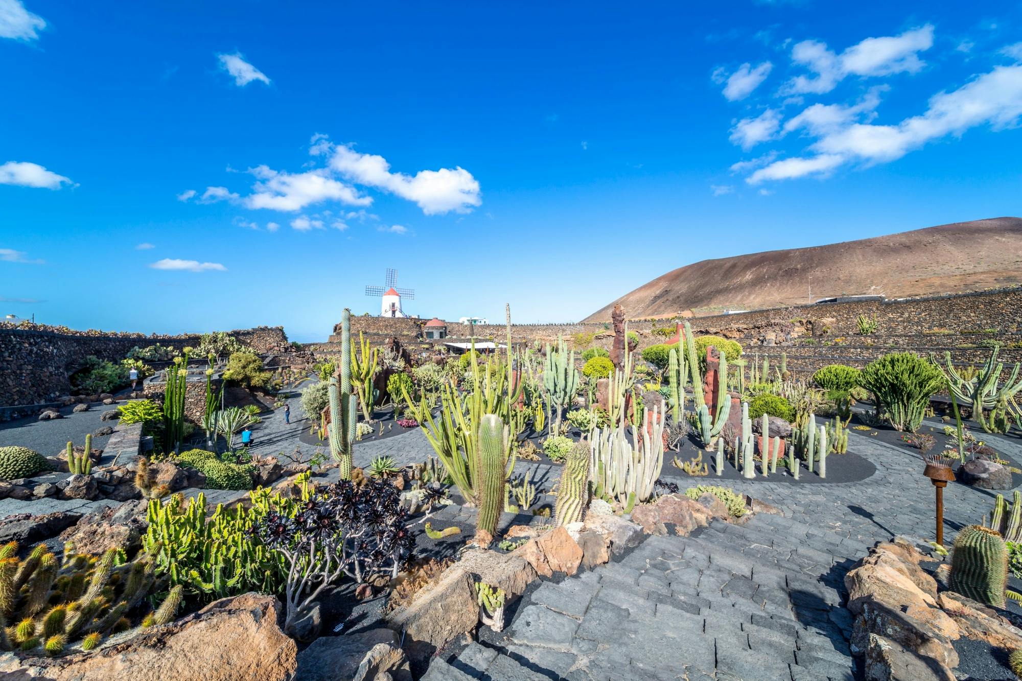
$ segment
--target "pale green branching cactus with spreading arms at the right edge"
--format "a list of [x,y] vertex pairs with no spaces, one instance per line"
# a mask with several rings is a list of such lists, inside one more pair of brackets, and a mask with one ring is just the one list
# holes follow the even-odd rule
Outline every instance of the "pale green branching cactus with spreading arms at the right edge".
[[997,362],[1001,347],[994,347],[975,376],[966,380],[951,364],[950,352],[944,352],[944,366],[931,357],[934,366],[940,369],[951,396],[960,402],[972,405],[973,418],[979,421],[987,433],[1007,433],[1014,420],[1022,428],[1022,407],[1017,396],[1022,391],[1022,378],[1019,377],[1022,364],[1016,363],[1011,376],[1005,383],[1001,382],[1004,362]]

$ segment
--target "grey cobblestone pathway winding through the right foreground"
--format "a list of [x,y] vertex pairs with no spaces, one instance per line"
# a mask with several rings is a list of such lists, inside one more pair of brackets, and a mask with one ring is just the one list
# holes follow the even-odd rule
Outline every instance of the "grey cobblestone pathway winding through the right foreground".
[[[424,679],[855,678],[844,574],[876,541],[931,539],[934,493],[911,453],[855,434],[849,449],[877,466],[869,480],[811,488],[728,481],[783,515],[650,537],[619,561],[545,582],[495,645],[437,657]],[[714,484],[712,475],[699,482]],[[992,497],[948,487],[948,534],[978,521]]]

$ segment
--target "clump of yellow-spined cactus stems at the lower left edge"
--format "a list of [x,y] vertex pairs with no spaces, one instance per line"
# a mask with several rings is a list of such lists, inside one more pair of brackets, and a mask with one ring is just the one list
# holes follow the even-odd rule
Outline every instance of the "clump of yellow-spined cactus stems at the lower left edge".
[[[110,633],[132,627],[131,617],[156,584],[151,558],[129,561],[123,549],[92,556],[75,553],[68,542],[58,557],[39,544],[18,559],[17,548],[16,542],[0,547],[0,649],[47,655],[92,650]],[[168,597],[157,624],[172,620],[179,602]]]

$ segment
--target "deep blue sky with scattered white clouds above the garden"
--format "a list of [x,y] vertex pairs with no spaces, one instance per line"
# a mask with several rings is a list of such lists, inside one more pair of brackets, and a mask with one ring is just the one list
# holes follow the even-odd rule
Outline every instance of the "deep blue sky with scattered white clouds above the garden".
[[0,312],[571,321],[676,267],[1020,215],[1022,3],[0,0]]

